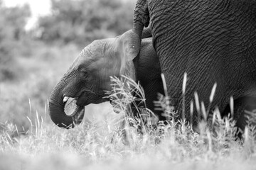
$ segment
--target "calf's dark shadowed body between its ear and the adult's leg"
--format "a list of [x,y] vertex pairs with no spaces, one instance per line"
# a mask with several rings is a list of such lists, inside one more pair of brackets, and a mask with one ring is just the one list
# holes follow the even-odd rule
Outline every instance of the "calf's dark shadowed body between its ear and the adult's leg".
[[[143,37],[146,37],[146,31],[144,30]],[[149,108],[154,112],[159,120],[166,120],[161,115],[161,111],[156,110],[154,101],[158,101],[157,94],[164,94],[163,82],[161,80],[161,68],[159,64],[159,58],[152,46],[151,38],[142,39],[142,46],[137,62],[137,80],[144,89],[146,98],[146,108]]]

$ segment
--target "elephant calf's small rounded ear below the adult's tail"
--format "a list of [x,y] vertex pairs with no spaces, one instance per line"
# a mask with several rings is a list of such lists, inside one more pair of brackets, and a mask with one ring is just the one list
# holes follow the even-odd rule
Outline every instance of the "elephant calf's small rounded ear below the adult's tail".
[[119,47],[121,48],[119,50],[122,50],[122,57],[124,57],[124,60],[133,60],[139,54],[139,36],[132,30],[128,30],[118,39]]

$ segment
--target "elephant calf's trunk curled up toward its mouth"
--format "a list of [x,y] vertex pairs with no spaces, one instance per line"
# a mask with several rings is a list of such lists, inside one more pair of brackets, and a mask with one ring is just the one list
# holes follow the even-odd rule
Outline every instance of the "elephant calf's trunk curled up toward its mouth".
[[67,115],[65,113],[66,102],[63,102],[63,98],[63,81],[60,81],[50,94],[50,118],[53,120],[53,123],[58,125],[60,128],[74,128],[75,125],[82,122],[82,118],[85,114],[85,108],[82,106],[77,106],[73,114]]

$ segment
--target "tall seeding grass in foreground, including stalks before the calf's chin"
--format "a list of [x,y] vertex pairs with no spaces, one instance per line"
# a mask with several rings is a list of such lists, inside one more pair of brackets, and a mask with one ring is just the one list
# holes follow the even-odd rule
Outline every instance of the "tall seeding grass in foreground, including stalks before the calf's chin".
[[[112,96],[131,97],[124,88],[128,82],[132,83],[132,91],[143,93],[130,79],[112,78],[112,82],[119,84],[114,87]],[[143,101],[144,98],[134,100]],[[123,98],[117,102],[123,113],[127,111],[127,102],[131,100]],[[149,118],[146,125],[129,115],[118,115],[115,122],[106,117],[100,124],[84,121],[72,130],[64,130],[49,125],[36,114],[34,119],[26,118],[30,128],[20,137],[11,137],[9,134],[15,132],[16,127],[7,124],[0,136],[0,168],[255,169],[255,127],[250,124],[241,142],[235,140],[234,121],[221,118],[218,110],[213,114],[216,129],[208,129],[203,119],[200,134],[193,132],[185,119],[170,119],[166,125],[159,123],[156,128],[150,128],[151,116],[146,115]]]

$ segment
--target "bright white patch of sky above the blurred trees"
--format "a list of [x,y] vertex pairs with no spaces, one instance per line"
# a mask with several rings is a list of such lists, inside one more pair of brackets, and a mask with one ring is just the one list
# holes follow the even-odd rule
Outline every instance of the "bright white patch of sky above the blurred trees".
[[32,17],[29,19],[26,29],[32,28],[38,16],[43,16],[50,13],[50,0],[4,0],[6,6],[21,6],[29,4],[31,7]]

